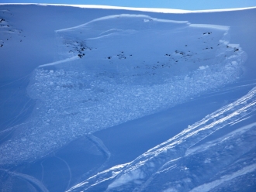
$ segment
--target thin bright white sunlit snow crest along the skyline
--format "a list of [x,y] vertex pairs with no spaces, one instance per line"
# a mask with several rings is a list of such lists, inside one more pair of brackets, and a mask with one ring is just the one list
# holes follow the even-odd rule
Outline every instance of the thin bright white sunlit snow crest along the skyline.
[[230,8],[230,9],[204,9],[204,10],[185,10],[185,9],[170,9],[170,8],[137,8],[137,7],[123,7],[112,5],[76,5],[76,4],[50,4],[50,3],[0,3],[0,5],[40,5],[40,6],[70,6],[84,9],[123,9],[129,11],[140,12],[161,12],[161,13],[200,13],[200,12],[231,12],[241,11],[247,9],[256,9],[254,7],[244,8]]

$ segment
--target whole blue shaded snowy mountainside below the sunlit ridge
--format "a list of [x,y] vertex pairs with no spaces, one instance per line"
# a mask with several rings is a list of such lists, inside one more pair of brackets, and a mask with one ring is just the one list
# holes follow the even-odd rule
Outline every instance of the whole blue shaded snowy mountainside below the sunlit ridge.
[[[0,9],[1,91],[16,91],[10,91],[12,97],[3,94],[2,106],[8,111],[9,102],[22,94],[19,89],[28,97],[20,101],[18,114],[9,110],[1,121],[0,183],[5,189],[20,187],[12,178],[26,180],[22,189],[32,185],[43,191],[215,191],[237,189],[238,183],[250,185],[247,190],[255,187],[255,65],[247,60],[254,57],[255,27],[247,29],[252,39],[246,43],[245,37],[237,38],[244,26],[207,19],[210,14],[216,19],[221,14],[238,17],[240,12],[255,17],[255,9],[198,15],[38,5]],[[27,70],[16,74],[12,67],[17,63]],[[171,108],[185,114],[200,102],[216,105],[194,111],[198,115],[190,114],[191,120],[171,118],[174,114],[167,121],[156,118]],[[149,125],[149,118],[157,119],[156,125]],[[129,138],[110,145],[119,135],[108,140],[95,136],[102,129],[112,132],[112,127],[140,135],[122,128],[136,127],[137,119],[147,125],[142,127],[145,140],[153,138],[157,144],[131,150],[130,163],[115,152],[128,147]],[[175,128],[180,132],[176,135],[171,123],[178,122],[182,126]],[[161,135],[156,142],[152,130]],[[67,146],[82,138],[91,155],[87,170],[78,173],[70,163],[78,159],[67,157]],[[142,143],[139,137],[132,142]],[[93,164],[92,153],[102,163]],[[53,158],[68,170],[65,188],[59,187],[61,180],[54,183],[43,176],[50,167],[43,163]],[[33,166],[37,170],[31,173]],[[81,174],[85,181],[78,183]]]

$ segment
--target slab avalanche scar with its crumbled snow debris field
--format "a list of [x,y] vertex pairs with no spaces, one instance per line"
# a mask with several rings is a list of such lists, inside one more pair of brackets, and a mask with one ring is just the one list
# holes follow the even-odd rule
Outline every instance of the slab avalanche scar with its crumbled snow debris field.
[[[0,165],[33,161],[81,135],[170,108],[243,73],[244,51],[229,44],[227,26],[112,15],[56,36],[61,60],[33,72],[28,94],[36,108],[0,146]],[[147,175],[134,170],[133,177]]]

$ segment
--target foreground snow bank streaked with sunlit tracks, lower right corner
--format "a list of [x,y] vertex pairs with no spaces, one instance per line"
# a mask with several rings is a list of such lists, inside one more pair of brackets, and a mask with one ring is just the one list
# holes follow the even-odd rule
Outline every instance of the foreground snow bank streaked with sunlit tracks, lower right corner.
[[[236,185],[227,183],[236,179],[240,187],[243,182],[254,187],[247,174],[256,172],[256,122],[238,122],[255,112],[256,87],[133,162],[102,171],[70,191],[234,191]],[[209,139],[227,127],[229,133]]]

